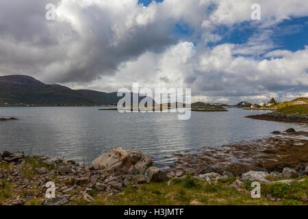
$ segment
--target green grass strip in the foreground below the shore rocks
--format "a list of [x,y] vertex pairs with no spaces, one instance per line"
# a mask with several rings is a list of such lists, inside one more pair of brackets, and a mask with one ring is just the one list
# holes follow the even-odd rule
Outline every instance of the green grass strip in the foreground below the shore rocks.
[[[172,179],[172,185],[149,183],[139,187],[126,188],[121,194],[102,197],[94,196],[93,203],[74,200],[70,205],[291,205],[303,204],[299,199],[286,199],[285,203],[269,201],[266,194],[261,198],[251,198],[251,182],[246,190],[239,192],[229,187],[235,178],[216,183],[201,181],[192,177]],[[263,186],[263,185],[262,185]],[[273,188],[275,191],[275,188]],[[280,192],[278,192],[280,194]]]

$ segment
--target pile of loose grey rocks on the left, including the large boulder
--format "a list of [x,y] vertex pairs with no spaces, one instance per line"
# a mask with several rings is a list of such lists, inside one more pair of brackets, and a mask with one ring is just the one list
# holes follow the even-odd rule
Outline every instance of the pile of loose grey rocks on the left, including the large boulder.
[[[94,160],[91,166],[80,166],[73,160],[0,153],[0,181],[10,184],[12,196],[4,205],[23,205],[42,199],[43,205],[63,205],[73,199],[91,202],[91,194],[107,196],[126,186],[138,186],[168,179],[166,173],[152,166],[150,157],[136,150],[116,148]],[[56,198],[45,198],[46,183],[55,183]]]

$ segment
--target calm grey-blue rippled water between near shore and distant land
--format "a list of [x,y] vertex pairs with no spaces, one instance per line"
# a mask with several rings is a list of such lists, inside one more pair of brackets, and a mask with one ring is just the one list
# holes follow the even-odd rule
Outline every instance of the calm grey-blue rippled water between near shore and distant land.
[[66,157],[90,164],[99,155],[124,147],[150,155],[162,168],[178,151],[220,146],[269,136],[272,131],[307,125],[244,118],[264,111],[229,109],[229,112],[192,112],[190,120],[172,113],[99,111],[98,107],[0,107],[0,151]]

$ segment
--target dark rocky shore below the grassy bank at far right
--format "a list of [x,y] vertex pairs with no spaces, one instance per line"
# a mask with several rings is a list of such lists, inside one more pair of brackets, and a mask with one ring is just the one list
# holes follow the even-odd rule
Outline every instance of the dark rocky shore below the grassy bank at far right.
[[288,122],[288,123],[308,123],[308,114],[303,116],[280,114],[279,112],[272,112],[268,114],[246,116],[246,118],[254,118],[259,120],[269,120],[277,122]]

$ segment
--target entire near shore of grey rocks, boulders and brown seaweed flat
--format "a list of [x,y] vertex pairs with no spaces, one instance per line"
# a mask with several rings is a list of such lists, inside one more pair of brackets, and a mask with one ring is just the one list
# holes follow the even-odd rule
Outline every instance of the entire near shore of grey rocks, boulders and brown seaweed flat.
[[[191,183],[194,185],[193,179],[228,182],[227,186],[240,192],[245,181],[269,185],[304,182],[307,177],[299,177],[308,175],[308,133],[292,129],[274,133],[275,136],[253,142],[177,154],[179,159],[168,171],[153,166],[151,157],[140,151],[122,148],[101,155],[90,166],[64,158],[4,151],[0,153],[0,205],[92,203],[97,197],[108,200],[123,194],[125,188],[152,182],[171,186],[176,179],[188,179],[188,185],[184,183],[188,188]],[[271,181],[271,177],[278,181]],[[48,182],[55,183],[55,198],[46,196]],[[307,196],[300,197],[307,201]]]

